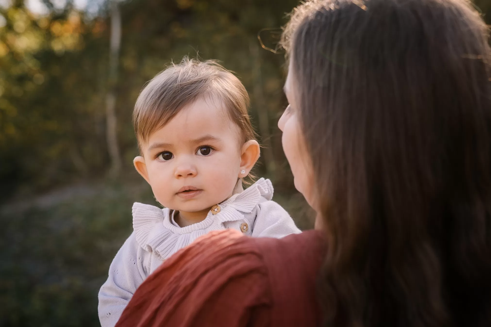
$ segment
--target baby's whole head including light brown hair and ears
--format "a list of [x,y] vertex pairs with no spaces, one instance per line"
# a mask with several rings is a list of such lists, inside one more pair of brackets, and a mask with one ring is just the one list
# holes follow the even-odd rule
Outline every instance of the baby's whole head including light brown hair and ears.
[[232,195],[259,157],[248,103],[243,84],[214,61],[184,58],[145,86],[134,111],[134,164],[157,201],[202,212]]

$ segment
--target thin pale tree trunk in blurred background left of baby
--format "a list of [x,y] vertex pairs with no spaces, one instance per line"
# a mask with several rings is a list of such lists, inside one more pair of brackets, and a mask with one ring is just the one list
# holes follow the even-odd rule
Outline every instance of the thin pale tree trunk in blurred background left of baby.
[[112,177],[121,171],[121,155],[117,140],[116,118],[116,85],[118,80],[119,49],[121,45],[121,14],[118,3],[110,1],[111,36],[109,54],[109,88],[106,96],[106,139],[108,142],[111,167],[109,173]]

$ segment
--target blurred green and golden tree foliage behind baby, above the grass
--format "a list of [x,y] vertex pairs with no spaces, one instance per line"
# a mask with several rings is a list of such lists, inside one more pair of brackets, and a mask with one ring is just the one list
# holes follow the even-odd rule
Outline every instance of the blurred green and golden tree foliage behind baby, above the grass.
[[[48,0],[46,0],[48,1]],[[296,0],[133,0],[120,3],[122,41],[116,82],[117,139],[123,165],[131,168],[136,139],[131,112],[136,97],[171,59],[215,58],[237,73],[252,92],[251,115],[267,112],[266,156],[285,164],[275,120],[285,104],[283,56],[260,48],[258,32],[279,27]],[[0,9],[0,195],[30,194],[77,179],[105,176],[108,92],[107,4],[88,17],[68,3],[38,16],[22,0]],[[273,44],[279,33],[266,31]],[[273,47],[274,45],[272,45]],[[252,94],[251,94],[252,95]],[[255,94],[254,94],[255,95]],[[271,141],[270,141],[271,138]],[[273,142],[273,144],[271,144]],[[266,166],[263,163],[263,172]],[[277,174],[275,169],[269,172]],[[282,178],[279,178],[280,180]],[[290,185],[291,187],[291,185]]]

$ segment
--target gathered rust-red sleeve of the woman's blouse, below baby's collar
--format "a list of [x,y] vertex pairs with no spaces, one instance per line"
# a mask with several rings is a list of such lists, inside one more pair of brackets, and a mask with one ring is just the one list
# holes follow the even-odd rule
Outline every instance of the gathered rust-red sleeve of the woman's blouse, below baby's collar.
[[116,326],[269,326],[268,273],[250,240],[227,229],[181,249],[136,290]]

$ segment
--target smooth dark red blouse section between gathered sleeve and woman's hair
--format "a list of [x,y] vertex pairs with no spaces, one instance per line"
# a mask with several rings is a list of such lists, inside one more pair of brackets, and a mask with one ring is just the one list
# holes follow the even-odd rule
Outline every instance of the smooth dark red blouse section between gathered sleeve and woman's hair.
[[271,326],[319,326],[317,280],[326,249],[323,234],[308,230],[254,242],[270,277],[268,287],[274,299]]

